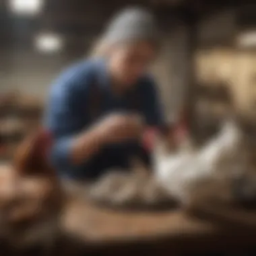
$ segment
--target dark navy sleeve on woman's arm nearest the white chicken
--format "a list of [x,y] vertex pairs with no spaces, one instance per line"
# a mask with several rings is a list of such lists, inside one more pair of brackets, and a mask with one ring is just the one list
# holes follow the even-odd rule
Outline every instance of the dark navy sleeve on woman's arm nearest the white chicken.
[[162,127],[164,125],[164,117],[160,96],[154,79],[146,80],[143,86],[143,108],[146,115],[146,121],[150,126]]

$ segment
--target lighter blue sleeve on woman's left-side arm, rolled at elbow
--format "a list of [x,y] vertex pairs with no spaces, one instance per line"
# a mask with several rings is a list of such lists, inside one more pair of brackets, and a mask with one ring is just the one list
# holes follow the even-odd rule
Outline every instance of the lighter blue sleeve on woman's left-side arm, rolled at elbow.
[[81,168],[71,164],[71,146],[73,135],[81,131],[86,124],[84,104],[87,95],[86,80],[79,78],[79,74],[64,75],[50,94],[46,110],[46,127],[53,134],[53,147],[50,160],[57,169]]

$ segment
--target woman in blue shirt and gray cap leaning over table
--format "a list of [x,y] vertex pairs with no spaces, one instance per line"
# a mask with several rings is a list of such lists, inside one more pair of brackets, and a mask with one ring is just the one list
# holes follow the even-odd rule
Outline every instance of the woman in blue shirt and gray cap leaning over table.
[[97,57],[57,79],[46,127],[54,138],[51,161],[61,174],[88,179],[129,167],[145,127],[161,125],[155,84],[147,74],[158,51],[157,32],[148,11],[126,9],[109,24]]

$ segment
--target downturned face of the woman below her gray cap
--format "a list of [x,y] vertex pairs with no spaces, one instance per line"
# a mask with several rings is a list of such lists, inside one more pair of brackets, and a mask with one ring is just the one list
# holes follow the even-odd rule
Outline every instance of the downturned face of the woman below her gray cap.
[[116,45],[110,53],[110,73],[125,87],[135,84],[156,55],[150,42]]

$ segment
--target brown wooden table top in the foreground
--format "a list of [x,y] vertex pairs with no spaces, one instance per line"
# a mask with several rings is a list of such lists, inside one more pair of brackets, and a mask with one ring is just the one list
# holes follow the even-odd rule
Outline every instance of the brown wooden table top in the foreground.
[[[256,214],[253,216],[256,216]],[[229,223],[230,224],[230,223]],[[255,228],[223,225],[187,216],[180,210],[120,212],[74,200],[63,215],[65,232],[97,255],[181,255],[253,246]]]

